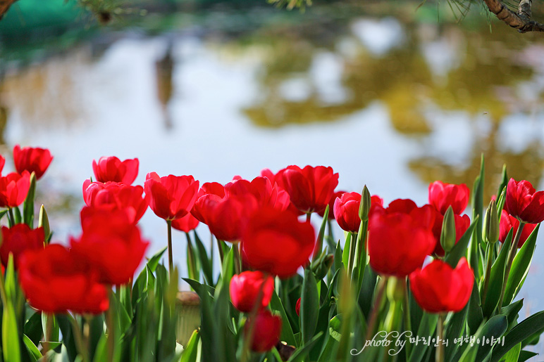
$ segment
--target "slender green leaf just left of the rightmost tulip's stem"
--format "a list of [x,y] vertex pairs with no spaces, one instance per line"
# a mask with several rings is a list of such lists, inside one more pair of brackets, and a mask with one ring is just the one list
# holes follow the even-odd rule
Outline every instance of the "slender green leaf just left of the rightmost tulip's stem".
[[[506,260],[508,257],[508,252],[510,250],[510,245],[512,244],[512,229],[510,229],[505,243],[500,248],[500,252],[497,256],[497,259],[491,266],[491,273],[489,277],[489,286],[486,295],[482,295],[483,299],[483,316],[490,317],[493,316],[497,304],[499,303],[500,295],[502,293],[502,282],[505,280],[505,266]],[[490,256],[488,256],[490,257]]]

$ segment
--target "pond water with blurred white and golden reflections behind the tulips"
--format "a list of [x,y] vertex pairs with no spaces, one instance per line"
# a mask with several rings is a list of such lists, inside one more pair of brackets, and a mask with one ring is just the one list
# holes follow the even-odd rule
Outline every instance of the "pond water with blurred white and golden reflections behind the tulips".
[[[543,39],[408,8],[154,15],[30,61],[3,53],[2,154],[51,150],[38,201],[61,242],[79,233],[82,181],[103,155],[138,157],[139,184],[147,172],[226,183],[323,164],[339,189],[423,205],[436,179],[471,186],[483,153],[486,196],[504,163],[543,189]],[[148,210],[141,224],[149,253],[166,245],[163,220]],[[542,243],[521,292],[532,311],[544,308]],[[186,275],[184,247],[175,233]]]

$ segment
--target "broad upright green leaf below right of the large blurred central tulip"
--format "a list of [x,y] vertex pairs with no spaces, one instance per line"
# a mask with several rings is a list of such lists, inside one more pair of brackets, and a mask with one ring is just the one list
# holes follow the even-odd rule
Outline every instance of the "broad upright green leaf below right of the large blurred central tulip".
[[316,286],[316,278],[311,269],[304,270],[304,282],[302,282],[302,299],[300,301],[300,329],[302,331],[303,345],[307,344],[314,336],[319,313],[319,294]]

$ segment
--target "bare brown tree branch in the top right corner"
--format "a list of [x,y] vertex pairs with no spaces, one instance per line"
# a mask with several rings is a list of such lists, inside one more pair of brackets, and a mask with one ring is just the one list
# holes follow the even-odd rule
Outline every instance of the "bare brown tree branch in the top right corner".
[[519,32],[544,32],[544,25],[531,20],[532,0],[519,1],[518,12],[514,13],[500,0],[483,0],[497,18],[507,25],[516,28]]

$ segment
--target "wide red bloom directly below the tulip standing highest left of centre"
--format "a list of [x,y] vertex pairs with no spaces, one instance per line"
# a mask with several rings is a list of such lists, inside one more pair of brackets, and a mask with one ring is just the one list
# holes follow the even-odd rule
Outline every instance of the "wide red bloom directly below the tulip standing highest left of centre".
[[147,199],[143,197],[142,186],[130,186],[125,183],[91,182],[83,183],[83,200],[89,207],[123,210],[130,222],[136,224],[147,210]]

